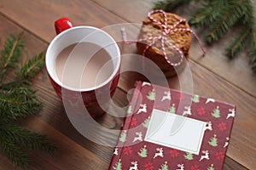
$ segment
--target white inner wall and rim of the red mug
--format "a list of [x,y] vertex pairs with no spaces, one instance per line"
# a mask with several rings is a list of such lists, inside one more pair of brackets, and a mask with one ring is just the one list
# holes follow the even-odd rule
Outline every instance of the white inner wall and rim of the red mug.
[[[77,42],[91,42],[104,48],[113,61],[113,72],[110,77],[101,84],[97,84],[93,88],[72,88],[62,83],[55,73],[55,59],[61,50],[67,48],[69,45]],[[66,31],[62,31],[57,35],[52,42],[50,42],[49,47],[45,56],[45,63],[49,76],[61,87],[67,88],[74,91],[90,91],[97,88],[101,88],[110,82],[116,73],[119,71],[120,65],[120,52],[117,43],[113,40],[113,37],[108,35],[107,32],[102,31],[96,27],[92,26],[76,26],[70,28]]]

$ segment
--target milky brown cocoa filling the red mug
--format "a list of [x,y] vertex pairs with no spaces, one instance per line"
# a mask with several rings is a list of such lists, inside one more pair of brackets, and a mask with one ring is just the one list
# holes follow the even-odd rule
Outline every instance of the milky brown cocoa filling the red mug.
[[57,55],[55,72],[58,79],[67,86],[93,88],[111,76],[113,62],[104,48],[95,43],[78,42],[64,48]]

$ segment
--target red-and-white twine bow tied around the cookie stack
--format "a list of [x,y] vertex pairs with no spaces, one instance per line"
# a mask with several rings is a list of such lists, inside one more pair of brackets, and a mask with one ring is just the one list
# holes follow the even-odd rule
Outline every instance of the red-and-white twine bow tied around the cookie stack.
[[[152,14],[154,13],[161,13],[164,15],[164,23],[162,23],[160,20],[155,20],[153,17],[152,17]],[[148,48],[152,47],[154,45],[155,42],[157,41],[160,41],[161,43],[161,50],[164,54],[164,57],[166,59],[166,62],[172,66],[177,66],[177,65],[180,65],[182,62],[183,62],[183,58],[184,58],[184,54],[183,52],[181,51],[181,49],[177,48],[177,46],[170,42],[169,40],[167,40],[167,35],[172,33],[172,32],[176,32],[176,31],[190,31],[194,36],[195,38],[197,39],[197,41],[199,42],[199,45],[201,47],[201,50],[203,52],[203,54],[206,54],[206,50],[205,48],[203,47],[202,43],[201,43],[201,40],[199,39],[199,37],[195,34],[195,31],[191,30],[190,28],[177,28],[177,26],[179,24],[181,24],[182,22],[186,22],[187,20],[186,19],[181,19],[181,20],[178,20],[176,23],[174,23],[170,28],[168,28],[168,19],[167,19],[167,14],[165,11],[163,10],[160,10],[160,9],[157,9],[157,10],[153,10],[151,12],[148,13],[148,18],[150,20],[152,20],[154,23],[157,23],[158,25],[160,25],[162,28],[163,28],[163,31],[161,32],[161,35],[160,36],[156,36],[156,37],[145,37],[145,38],[140,38],[140,39],[137,39],[135,41],[127,41],[126,40],[126,33],[125,33],[125,28],[122,28],[122,35],[123,35],[123,39],[125,41],[126,44],[130,45],[131,43],[134,43],[134,42],[145,42],[145,41],[148,41],[148,40],[152,40],[152,42],[150,44],[147,45],[146,48],[144,48],[143,50],[143,55],[146,54],[146,51],[148,50]],[[172,61],[170,59],[168,59],[168,56],[166,54],[166,48],[165,48],[165,42],[167,44],[169,44],[172,48],[174,48],[178,54],[180,54],[180,60],[177,62],[177,63],[172,63]]]

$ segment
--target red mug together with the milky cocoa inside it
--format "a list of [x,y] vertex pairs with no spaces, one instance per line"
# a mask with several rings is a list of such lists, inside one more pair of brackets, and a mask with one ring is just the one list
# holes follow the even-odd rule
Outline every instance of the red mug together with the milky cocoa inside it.
[[120,52],[107,32],[55,21],[57,36],[45,56],[49,80],[73,114],[102,115],[119,81]]

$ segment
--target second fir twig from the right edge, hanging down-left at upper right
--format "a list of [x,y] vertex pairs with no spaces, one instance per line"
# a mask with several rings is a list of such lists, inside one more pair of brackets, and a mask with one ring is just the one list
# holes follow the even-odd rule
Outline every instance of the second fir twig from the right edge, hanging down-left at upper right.
[[241,29],[241,32],[235,37],[234,41],[230,43],[230,46],[226,48],[227,56],[230,59],[233,59],[236,54],[241,52],[241,49],[247,46],[247,41],[251,36],[252,30],[250,27],[247,29]]

